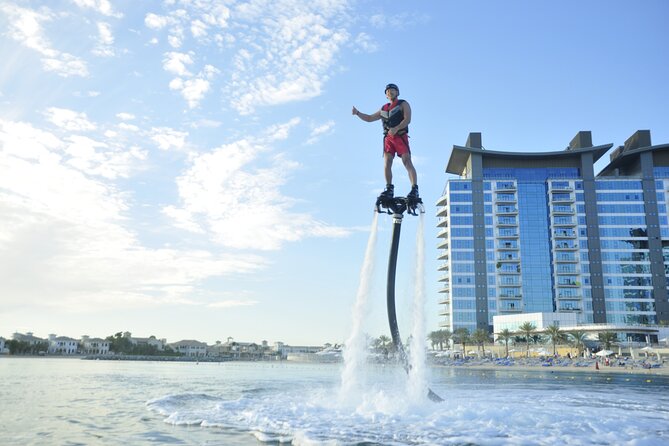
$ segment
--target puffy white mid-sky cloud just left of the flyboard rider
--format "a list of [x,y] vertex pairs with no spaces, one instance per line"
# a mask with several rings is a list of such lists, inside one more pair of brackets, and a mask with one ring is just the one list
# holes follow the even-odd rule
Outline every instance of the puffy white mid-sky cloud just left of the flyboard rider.
[[[270,130],[274,136],[267,142],[281,129]],[[294,200],[280,189],[298,164],[270,152],[264,141],[239,140],[193,156],[177,179],[180,206],[165,208],[165,214],[184,229],[206,231],[220,245],[238,249],[273,250],[305,237],[346,235],[292,210]]]

